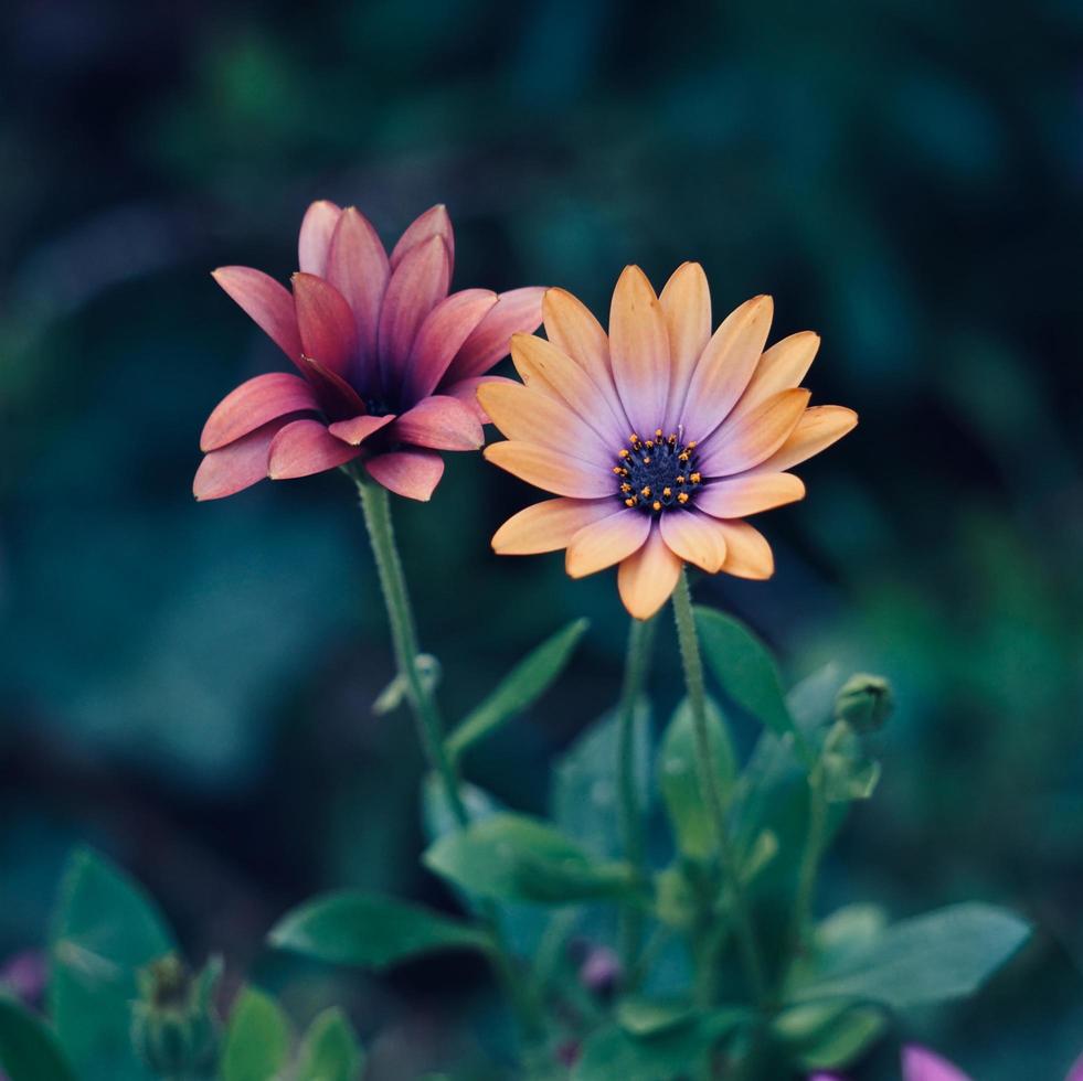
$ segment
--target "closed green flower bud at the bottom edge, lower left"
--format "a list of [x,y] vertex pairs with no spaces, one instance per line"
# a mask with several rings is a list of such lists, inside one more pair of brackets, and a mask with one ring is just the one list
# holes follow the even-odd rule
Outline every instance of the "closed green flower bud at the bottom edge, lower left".
[[172,953],[139,972],[139,998],[131,1007],[131,1041],[156,1074],[214,1075],[220,1032],[214,993],[221,975],[217,957],[193,974]]

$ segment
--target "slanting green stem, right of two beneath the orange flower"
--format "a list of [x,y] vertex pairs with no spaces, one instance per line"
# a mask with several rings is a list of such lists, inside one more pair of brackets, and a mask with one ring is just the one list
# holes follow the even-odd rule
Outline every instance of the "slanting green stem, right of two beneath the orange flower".
[[[722,799],[718,773],[711,768],[713,754],[707,727],[707,685],[703,681],[703,659],[700,656],[696,617],[692,613],[692,595],[688,588],[688,572],[686,570],[681,570],[677,588],[673,590],[673,617],[677,621],[677,641],[680,645],[681,663],[684,666],[684,685],[692,709],[700,786],[703,790],[703,798],[707,801],[712,823],[715,856],[719,869],[722,871],[723,882],[730,895],[734,933],[745,974],[756,1002],[762,1005],[766,999],[767,989],[763,962],[760,959],[760,948],[745,903],[744,889],[737,870],[736,853],[733,849],[730,831],[726,826],[725,801]],[[713,961],[712,956],[703,959],[704,964],[713,965]]]

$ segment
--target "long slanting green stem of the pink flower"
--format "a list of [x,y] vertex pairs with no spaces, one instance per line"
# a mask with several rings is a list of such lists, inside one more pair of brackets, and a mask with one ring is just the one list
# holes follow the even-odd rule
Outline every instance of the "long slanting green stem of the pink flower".
[[[444,723],[439,707],[432,688],[426,686],[417,671],[417,656],[421,651],[417,646],[417,630],[406,589],[406,577],[395,544],[391,500],[385,488],[368,480],[355,470],[348,470],[348,472],[357,484],[361,497],[361,510],[364,512],[364,523],[369,529],[372,555],[380,576],[387,621],[391,624],[395,663],[400,676],[406,683],[406,697],[417,725],[422,749],[429,768],[440,779],[445,799],[455,821],[459,828],[466,828],[470,824],[470,815],[459,792],[459,778],[455,764],[444,742]],[[521,980],[516,971],[495,906],[488,901],[480,902],[478,916],[492,942],[488,956],[497,980],[516,1012],[528,1045],[537,1045],[543,1031],[541,1006],[537,997],[530,993],[527,982]],[[532,1051],[533,1048],[528,1046],[527,1053]]]

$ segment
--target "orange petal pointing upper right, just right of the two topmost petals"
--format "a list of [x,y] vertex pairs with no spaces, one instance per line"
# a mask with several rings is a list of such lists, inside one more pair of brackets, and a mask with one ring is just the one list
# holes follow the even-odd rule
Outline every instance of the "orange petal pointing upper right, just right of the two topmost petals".
[[709,436],[744,393],[767,341],[773,312],[771,297],[753,297],[726,315],[708,342],[681,416],[691,439]]

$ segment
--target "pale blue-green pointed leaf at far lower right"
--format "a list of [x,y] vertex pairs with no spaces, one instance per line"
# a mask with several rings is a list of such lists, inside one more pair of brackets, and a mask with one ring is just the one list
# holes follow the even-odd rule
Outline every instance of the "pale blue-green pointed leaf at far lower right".
[[806,976],[789,997],[853,997],[892,1009],[962,998],[977,991],[1029,935],[1029,924],[1002,909],[953,905],[893,924],[863,949]]

